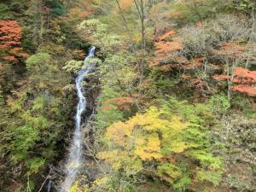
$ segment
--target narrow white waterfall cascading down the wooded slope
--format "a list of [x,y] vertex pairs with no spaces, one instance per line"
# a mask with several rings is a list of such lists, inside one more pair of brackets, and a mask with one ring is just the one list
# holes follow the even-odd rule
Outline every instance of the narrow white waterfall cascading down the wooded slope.
[[[89,60],[90,58],[94,57],[95,47],[90,48],[89,55],[85,58],[84,62]],[[87,76],[88,73],[92,70],[92,68],[95,66],[94,63],[90,63],[87,68],[82,68],[82,70],[79,72],[78,77],[76,78],[76,90],[77,95],[79,97],[79,103],[77,106],[77,113],[75,116],[75,131],[73,135],[73,143],[70,148],[68,160],[67,160],[67,176],[65,177],[64,182],[61,185],[60,192],[67,192],[76,176],[79,172],[79,166],[82,163],[82,143],[83,143],[83,136],[82,136],[82,130],[81,130],[81,115],[86,109],[87,101],[85,98],[85,90],[81,83],[84,81],[84,78]]]

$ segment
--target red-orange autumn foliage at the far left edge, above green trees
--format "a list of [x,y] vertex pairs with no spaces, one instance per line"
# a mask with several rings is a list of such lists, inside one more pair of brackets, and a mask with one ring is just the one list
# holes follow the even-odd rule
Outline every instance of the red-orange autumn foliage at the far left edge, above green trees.
[[28,56],[20,47],[21,31],[17,20],[0,20],[0,59],[2,61],[17,62]]

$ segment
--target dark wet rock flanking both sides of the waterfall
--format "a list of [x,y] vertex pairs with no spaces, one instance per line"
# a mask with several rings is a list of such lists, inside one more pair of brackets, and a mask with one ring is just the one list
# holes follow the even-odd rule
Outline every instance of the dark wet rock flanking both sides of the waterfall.
[[[96,70],[96,69],[95,69]],[[90,149],[94,148],[94,131],[93,131],[93,125],[88,125],[88,120],[90,119],[90,116],[92,113],[94,113],[94,110],[96,108],[96,99],[100,94],[100,89],[98,88],[97,84],[99,84],[99,81],[96,77],[90,77],[85,79],[86,85],[84,86],[84,89],[86,90],[86,99],[87,99],[87,107],[84,110],[84,112],[81,114],[82,122],[85,122],[83,125],[83,130],[84,130],[84,149],[83,149],[83,155],[84,155],[84,163],[81,166],[81,170],[78,172],[79,176],[85,176],[81,177],[81,180],[79,183],[83,184],[90,184],[96,179],[96,173],[98,172],[97,170],[97,165],[95,160],[90,154]],[[74,93],[75,94],[75,93]],[[71,104],[72,106],[76,106],[76,103],[78,103],[78,99],[75,98],[74,96],[74,102]],[[73,117],[75,116],[75,107],[73,109],[73,113],[70,114],[70,119],[73,121]],[[65,160],[67,158],[67,153],[68,151],[63,149],[63,143],[66,143],[66,147],[68,148],[69,144],[71,141],[64,141],[64,138],[67,139],[67,135],[70,135],[70,137],[73,137],[73,127],[74,124],[70,125],[67,132],[66,136],[63,137],[63,140],[58,144],[58,148],[60,148],[60,151],[62,151],[62,154],[58,159],[55,161],[55,166],[59,167],[57,165],[61,164],[61,166],[58,168],[61,172],[58,172],[58,174],[63,174],[63,170],[61,168],[65,164]],[[86,143],[86,144],[85,144]],[[55,171],[56,172],[56,171]],[[47,171],[45,174],[48,174],[49,171]],[[58,177],[58,175],[53,174],[52,175],[52,181],[50,183],[50,190],[49,190],[49,181],[47,181],[44,184],[44,188],[41,190],[42,192],[58,192],[58,188],[60,187],[60,180],[61,178]]]

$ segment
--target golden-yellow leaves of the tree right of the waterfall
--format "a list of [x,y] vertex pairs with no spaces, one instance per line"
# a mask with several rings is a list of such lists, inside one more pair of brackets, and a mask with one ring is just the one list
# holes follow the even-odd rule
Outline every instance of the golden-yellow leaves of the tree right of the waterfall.
[[182,153],[188,148],[181,137],[186,128],[187,124],[180,118],[168,115],[164,109],[151,107],[125,123],[110,125],[106,139],[114,149],[103,151],[98,157],[108,160],[115,170],[123,167],[138,172],[143,161],[160,160],[165,154]]

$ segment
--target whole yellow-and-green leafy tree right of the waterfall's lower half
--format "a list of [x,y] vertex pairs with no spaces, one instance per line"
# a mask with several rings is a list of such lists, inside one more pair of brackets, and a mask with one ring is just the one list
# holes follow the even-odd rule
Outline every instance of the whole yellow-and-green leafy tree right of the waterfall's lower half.
[[133,177],[138,183],[145,174],[180,191],[191,183],[218,185],[222,161],[212,154],[207,141],[204,124],[212,118],[209,112],[207,106],[189,106],[170,98],[160,108],[150,107],[110,125],[104,138],[107,148],[98,157],[108,161],[110,172],[121,171],[120,177]]

